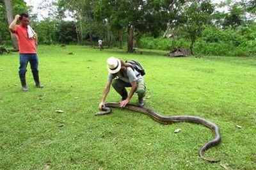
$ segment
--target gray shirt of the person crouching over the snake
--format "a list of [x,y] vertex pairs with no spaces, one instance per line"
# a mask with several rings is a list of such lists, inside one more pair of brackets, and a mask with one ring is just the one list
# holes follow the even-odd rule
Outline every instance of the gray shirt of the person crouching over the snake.
[[118,77],[118,79],[124,81],[124,82],[139,82],[141,80],[143,80],[143,77],[140,75],[139,72],[137,72],[137,70],[132,70],[131,67],[127,67],[126,72],[124,72],[124,75],[122,75],[122,73],[118,72],[116,74],[113,73],[108,73],[108,80],[112,81],[113,79],[115,79],[116,76]]

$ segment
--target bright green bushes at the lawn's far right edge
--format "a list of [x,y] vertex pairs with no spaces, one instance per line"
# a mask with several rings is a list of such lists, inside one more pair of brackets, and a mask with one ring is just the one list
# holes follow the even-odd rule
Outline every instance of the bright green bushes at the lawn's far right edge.
[[[214,56],[251,56],[256,54],[256,41],[252,39],[254,33],[250,30],[248,27],[235,32],[231,29],[207,27],[202,38],[196,42],[195,51]],[[246,31],[251,34],[245,34]]]

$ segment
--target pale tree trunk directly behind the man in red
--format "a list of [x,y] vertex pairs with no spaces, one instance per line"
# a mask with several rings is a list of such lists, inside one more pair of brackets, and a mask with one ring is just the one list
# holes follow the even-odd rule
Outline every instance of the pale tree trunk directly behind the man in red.
[[[6,9],[8,24],[10,25],[13,21],[12,0],[4,0],[4,4],[5,4],[5,9]],[[13,48],[19,49],[17,38],[13,33],[11,33],[11,38],[12,38]]]

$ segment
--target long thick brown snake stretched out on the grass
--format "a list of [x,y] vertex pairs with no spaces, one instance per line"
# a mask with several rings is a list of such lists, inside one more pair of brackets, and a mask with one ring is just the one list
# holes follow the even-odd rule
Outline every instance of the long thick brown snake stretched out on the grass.
[[[105,107],[102,107],[102,111],[95,113],[95,115],[100,116],[100,115],[111,113],[110,107],[120,108],[120,105],[119,105],[119,103],[116,103],[116,102],[105,103]],[[139,107],[138,105],[132,105],[132,104],[125,105],[124,109],[128,109],[128,110],[131,110],[131,111],[136,111],[136,112],[141,112],[143,114],[146,114],[147,116],[149,116],[153,120],[155,120],[155,121],[157,121],[161,124],[165,124],[165,125],[175,123],[175,122],[179,122],[179,121],[188,121],[188,122],[192,122],[192,123],[199,123],[199,124],[204,125],[207,128],[210,128],[212,130],[212,132],[214,132],[215,137],[211,141],[208,141],[207,143],[205,143],[204,146],[202,146],[200,148],[199,156],[202,159],[207,160],[209,162],[219,162],[220,161],[220,159],[211,159],[211,158],[205,158],[204,157],[204,151],[208,150],[212,146],[218,145],[221,141],[220,129],[217,127],[217,125],[215,125],[211,121],[207,121],[203,118],[199,118],[199,117],[196,117],[196,116],[188,116],[188,115],[161,116],[160,114],[157,114],[156,112],[152,111],[151,109],[147,109],[146,107]]]

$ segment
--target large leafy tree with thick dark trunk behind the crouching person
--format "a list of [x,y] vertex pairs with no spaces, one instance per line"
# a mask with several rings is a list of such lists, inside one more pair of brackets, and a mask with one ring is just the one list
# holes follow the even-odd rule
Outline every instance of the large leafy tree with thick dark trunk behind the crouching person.
[[[177,1],[174,1],[177,3]],[[95,8],[99,20],[108,20],[111,30],[118,31],[122,47],[123,32],[127,32],[127,52],[133,52],[134,32],[136,37],[143,33],[157,37],[166,28],[172,12],[170,1],[158,0],[101,0]]]

